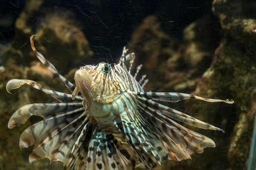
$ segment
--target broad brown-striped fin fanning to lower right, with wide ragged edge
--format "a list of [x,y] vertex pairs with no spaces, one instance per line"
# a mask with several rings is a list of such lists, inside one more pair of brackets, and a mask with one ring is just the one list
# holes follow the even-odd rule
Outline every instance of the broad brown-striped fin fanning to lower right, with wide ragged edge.
[[[164,141],[164,148],[168,153],[168,159],[181,161],[191,159],[191,154],[202,153],[203,148],[215,147],[215,143],[209,137],[186,129],[177,122],[166,118],[159,111],[149,109],[146,105],[139,105],[144,113],[144,119],[147,120],[148,126],[154,127],[155,135]],[[160,155],[166,159],[166,155]]]

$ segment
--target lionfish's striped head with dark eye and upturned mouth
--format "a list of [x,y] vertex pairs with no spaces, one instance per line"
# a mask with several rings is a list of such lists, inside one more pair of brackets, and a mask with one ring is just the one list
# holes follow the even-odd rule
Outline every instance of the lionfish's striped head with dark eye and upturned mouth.
[[76,88],[85,100],[110,102],[114,96],[127,88],[120,86],[122,76],[114,67],[114,64],[101,62],[97,65],[85,65],[76,70]]

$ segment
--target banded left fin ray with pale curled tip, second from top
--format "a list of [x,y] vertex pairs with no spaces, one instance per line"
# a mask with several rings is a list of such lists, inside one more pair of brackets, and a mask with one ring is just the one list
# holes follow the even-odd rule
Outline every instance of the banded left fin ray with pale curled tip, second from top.
[[[36,81],[31,81],[31,80],[26,80],[26,79],[11,79],[11,80],[9,80],[6,84],[6,90],[8,93],[11,94],[11,92],[10,92],[11,90],[18,89],[24,84],[30,85],[31,87],[33,87],[35,89],[45,92],[46,94],[52,96],[52,98],[55,98],[56,100],[58,100],[59,102],[73,101],[71,94],[65,94],[65,93],[49,90],[49,89],[45,88],[43,85],[40,85],[39,83],[37,83]],[[83,98],[81,96],[76,96],[76,100],[83,101]]]

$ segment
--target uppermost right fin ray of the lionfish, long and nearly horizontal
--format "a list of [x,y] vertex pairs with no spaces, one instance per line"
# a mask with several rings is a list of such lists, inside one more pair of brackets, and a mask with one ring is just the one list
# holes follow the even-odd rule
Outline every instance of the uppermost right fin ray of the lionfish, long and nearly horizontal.
[[200,96],[195,96],[193,94],[186,93],[168,93],[168,92],[133,92],[140,97],[144,97],[146,99],[152,99],[163,102],[178,102],[180,100],[187,99],[198,99],[204,100],[207,102],[225,102],[228,104],[234,103],[234,100],[220,100],[220,99],[212,99],[212,98],[202,98]]

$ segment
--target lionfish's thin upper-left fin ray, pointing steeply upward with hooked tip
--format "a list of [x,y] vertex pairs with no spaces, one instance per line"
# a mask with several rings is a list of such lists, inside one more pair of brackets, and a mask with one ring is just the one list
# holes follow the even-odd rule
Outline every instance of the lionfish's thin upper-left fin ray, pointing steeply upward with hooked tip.
[[36,55],[36,57],[47,67],[49,68],[49,70],[51,70],[53,72],[53,74],[55,74],[58,78],[61,79],[61,81],[66,85],[66,87],[70,90],[70,92],[73,92],[75,89],[75,86],[70,83],[65,77],[63,77],[61,74],[58,73],[57,69],[54,67],[54,65],[52,63],[50,63],[47,59],[45,59],[45,57],[43,57],[43,55],[38,52],[34,46],[34,36],[36,35],[32,35],[30,37],[30,44],[31,44],[31,48],[34,52],[34,54]]

